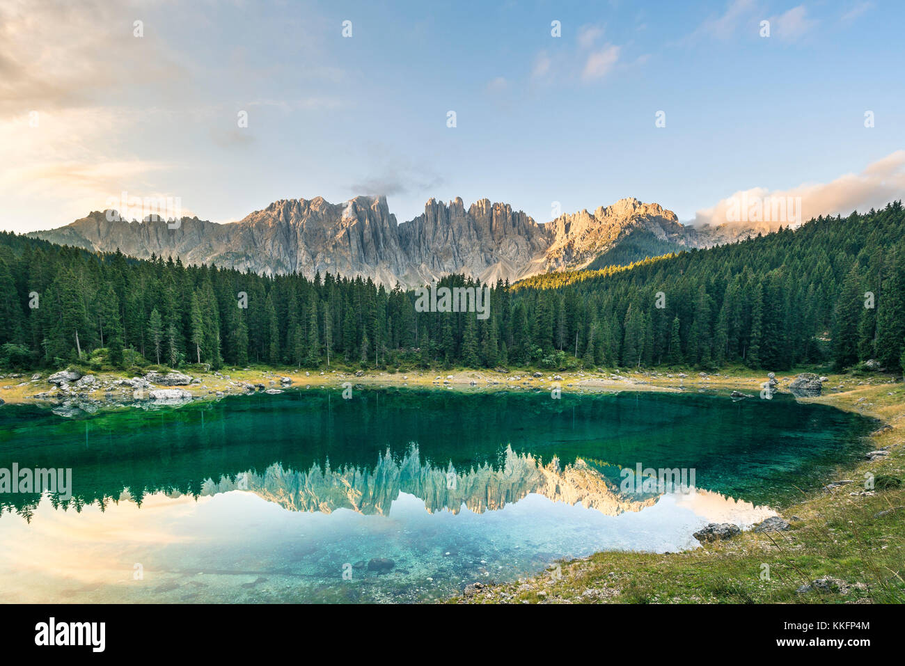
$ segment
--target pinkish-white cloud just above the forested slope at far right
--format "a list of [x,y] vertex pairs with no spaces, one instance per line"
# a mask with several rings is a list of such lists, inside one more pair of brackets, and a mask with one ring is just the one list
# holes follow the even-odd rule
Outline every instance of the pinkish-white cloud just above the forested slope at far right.
[[[821,214],[847,215],[854,210],[879,208],[901,198],[902,192],[905,192],[905,150],[897,150],[872,162],[860,174],[845,174],[829,183],[805,183],[787,190],[770,191],[764,187],[739,190],[717,205],[698,211],[691,224],[736,224],[739,203],[745,209],[755,202],[760,202],[764,210],[775,202],[797,202],[800,219],[806,222]],[[754,226],[766,232],[789,223],[789,219],[773,220]]]

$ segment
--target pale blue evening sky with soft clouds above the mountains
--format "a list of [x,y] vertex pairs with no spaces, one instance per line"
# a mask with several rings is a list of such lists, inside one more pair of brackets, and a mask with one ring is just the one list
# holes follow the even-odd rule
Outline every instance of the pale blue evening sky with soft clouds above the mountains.
[[739,193],[800,196],[805,219],[879,207],[905,192],[903,19],[881,0],[0,0],[0,230],[123,192],[221,223],[376,194],[399,222],[456,196],[541,223],[627,196],[691,223]]

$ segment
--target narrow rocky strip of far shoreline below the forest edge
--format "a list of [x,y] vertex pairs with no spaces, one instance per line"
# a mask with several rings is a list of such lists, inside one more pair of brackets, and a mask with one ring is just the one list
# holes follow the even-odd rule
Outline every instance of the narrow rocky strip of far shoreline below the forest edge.
[[[434,371],[435,372],[435,371]],[[559,391],[566,393],[672,391],[702,393],[730,389],[732,400],[771,398],[787,392],[796,398],[821,395],[828,377],[800,373],[777,379],[774,373],[766,377],[748,375],[684,372],[636,371],[559,371],[540,372],[535,369],[512,370],[505,367],[482,370],[454,370],[449,374],[414,370],[376,372],[357,370],[314,370],[296,368],[260,369],[226,368],[221,371],[187,374],[175,370],[150,371],[144,376],[122,376],[111,372],[83,374],[67,367],[51,375],[0,375],[0,404],[31,403],[50,406],[55,414],[77,416],[94,414],[100,409],[137,406],[177,406],[195,400],[219,400],[228,395],[255,393],[280,394],[290,388],[333,387],[343,390],[355,387],[421,387],[465,391]],[[5,384],[6,380],[18,380]],[[862,383],[859,383],[859,385]],[[833,390],[847,387],[841,380]]]

